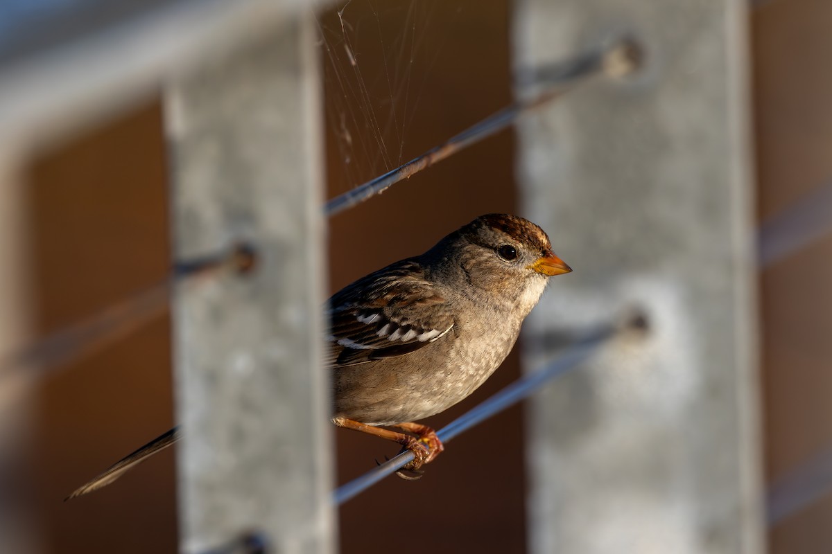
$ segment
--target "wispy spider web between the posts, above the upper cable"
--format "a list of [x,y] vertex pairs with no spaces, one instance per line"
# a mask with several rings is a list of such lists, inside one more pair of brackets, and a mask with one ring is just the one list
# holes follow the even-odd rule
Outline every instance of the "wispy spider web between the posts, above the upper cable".
[[453,22],[461,11],[440,0],[348,0],[318,14],[327,148],[342,168],[338,192],[420,152],[410,130],[453,28],[436,22]]

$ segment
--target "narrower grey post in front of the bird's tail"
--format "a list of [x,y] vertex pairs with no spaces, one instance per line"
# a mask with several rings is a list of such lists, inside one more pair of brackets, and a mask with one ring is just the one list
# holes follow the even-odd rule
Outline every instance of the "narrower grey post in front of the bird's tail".
[[258,249],[250,276],[186,284],[176,297],[183,550],[254,530],[273,552],[330,552],[320,106],[309,22],[276,27],[183,76],[167,91],[167,108],[177,257],[241,238]]

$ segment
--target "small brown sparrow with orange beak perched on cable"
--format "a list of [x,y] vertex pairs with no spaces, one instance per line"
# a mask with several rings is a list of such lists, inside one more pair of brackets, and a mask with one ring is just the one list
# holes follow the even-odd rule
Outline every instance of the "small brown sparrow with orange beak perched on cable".
[[[427,252],[336,292],[326,305],[324,348],[332,422],[401,444],[414,459],[397,473],[418,478],[444,450],[435,430],[418,421],[483,385],[512,350],[549,277],[571,271],[537,224],[488,213]],[[171,429],[67,499],[102,488],[180,437]]]

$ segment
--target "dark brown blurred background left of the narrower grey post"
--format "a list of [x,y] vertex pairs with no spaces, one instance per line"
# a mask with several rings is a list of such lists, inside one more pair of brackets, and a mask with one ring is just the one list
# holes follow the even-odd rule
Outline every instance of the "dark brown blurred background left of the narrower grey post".
[[[170,267],[161,105],[42,153],[26,172],[35,332],[133,297]],[[173,453],[116,487],[80,484],[171,427],[167,311],[37,381],[27,463],[43,552],[176,552]]]

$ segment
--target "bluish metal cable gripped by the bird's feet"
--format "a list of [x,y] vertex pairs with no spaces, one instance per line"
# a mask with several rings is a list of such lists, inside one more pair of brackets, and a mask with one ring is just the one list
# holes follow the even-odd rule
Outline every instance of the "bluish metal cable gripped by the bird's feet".
[[[557,377],[557,375],[562,375],[587,360],[614,333],[615,329],[612,326],[588,332],[582,339],[574,341],[571,345],[567,346],[556,360],[548,363],[541,370],[537,370],[514,381],[511,385],[500,390],[482,404],[478,404],[473,409],[454,419],[450,424],[443,427],[443,429],[439,429],[436,433],[439,440],[443,443],[448,443],[454,437],[482,423],[494,414],[498,414],[509,406],[518,403],[520,400],[526,399],[533,392],[540,389],[542,385],[546,385],[550,380]],[[345,503],[350,498],[354,498],[357,494],[372,487],[375,483],[379,483],[382,479],[399,471],[399,469],[412,462],[413,459],[414,455],[411,452],[400,453],[398,456],[390,458],[387,462],[379,465],[379,467],[373,468],[369,472],[364,473],[364,475],[354,478],[349,483],[344,483],[344,485],[336,488],[333,493],[333,502],[336,505]]]

